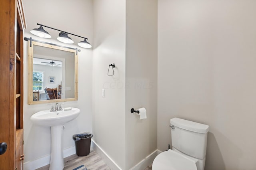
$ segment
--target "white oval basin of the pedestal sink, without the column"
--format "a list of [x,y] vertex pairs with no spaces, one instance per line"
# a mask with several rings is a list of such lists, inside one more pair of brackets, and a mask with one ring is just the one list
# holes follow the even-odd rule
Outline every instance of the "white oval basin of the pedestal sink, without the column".
[[64,123],[74,120],[80,114],[80,109],[72,107],[69,111],[50,110],[39,111],[30,117],[30,120],[36,124],[45,127],[52,127],[56,125],[64,125]]

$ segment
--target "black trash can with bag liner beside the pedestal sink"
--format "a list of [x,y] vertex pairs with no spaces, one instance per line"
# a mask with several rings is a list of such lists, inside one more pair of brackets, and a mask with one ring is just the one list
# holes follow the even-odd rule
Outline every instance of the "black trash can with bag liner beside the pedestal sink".
[[77,156],[86,156],[90,153],[92,136],[93,135],[90,133],[80,133],[73,135],[73,139],[76,144]]

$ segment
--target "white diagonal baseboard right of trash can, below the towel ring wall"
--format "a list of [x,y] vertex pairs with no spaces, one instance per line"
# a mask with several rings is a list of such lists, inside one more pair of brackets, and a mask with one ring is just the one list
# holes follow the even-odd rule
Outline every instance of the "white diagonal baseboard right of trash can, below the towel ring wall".
[[93,139],[91,146],[92,149],[104,160],[104,162],[106,162],[111,170],[122,170],[122,168],[120,168],[118,164],[116,164],[116,162],[112,160],[112,158],[110,158],[110,156],[108,156],[108,154],[102,150],[102,148]]

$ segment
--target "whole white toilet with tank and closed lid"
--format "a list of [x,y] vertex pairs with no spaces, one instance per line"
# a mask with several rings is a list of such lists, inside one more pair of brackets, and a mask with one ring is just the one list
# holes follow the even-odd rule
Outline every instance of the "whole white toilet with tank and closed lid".
[[173,118],[172,150],[160,153],[152,170],[204,170],[208,125]]

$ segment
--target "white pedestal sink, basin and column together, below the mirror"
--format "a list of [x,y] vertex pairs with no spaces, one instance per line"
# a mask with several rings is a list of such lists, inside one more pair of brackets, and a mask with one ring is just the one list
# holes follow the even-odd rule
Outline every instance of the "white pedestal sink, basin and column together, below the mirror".
[[72,107],[68,111],[50,110],[39,111],[30,117],[30,120],[40,126],[51,127],[52,132],[52,154],[50,170],[62,170],[64,158],[62,153],[62,133],[64,123],[70,122],[80,114],[80,109]]

